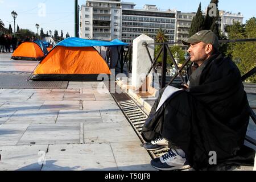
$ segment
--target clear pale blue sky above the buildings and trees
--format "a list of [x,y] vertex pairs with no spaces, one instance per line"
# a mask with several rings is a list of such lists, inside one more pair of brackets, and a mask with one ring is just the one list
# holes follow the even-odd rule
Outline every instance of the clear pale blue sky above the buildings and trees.
[[[69,32],[74,35],[74,0],[0,0],[0,19],[5,23],[5,27],[9,27],[11,23],[14,26],[11,11],[18,13],[16,24],[20,28],[28,28],[36,32],[35,24],[38,23],[40,28],[43,27],[44,32],[63,30],[64,36]],[[85,0],[79,0],[79,5],[85,4]],[[202,9],[205,10],[210,0],[127,0],[125,2],[134,2],[137,9],[145,4],[156,5],[159,9],[176,9],[182,12],[196,12],[201,2]],[[43,13],[40,3],[46,5],[46,14]],[[219,10],[232,11],[232,13],[241,12],[245,20],[255,15],[255,0],[219,0]],[[14,28],[13,28],[14,29]]]

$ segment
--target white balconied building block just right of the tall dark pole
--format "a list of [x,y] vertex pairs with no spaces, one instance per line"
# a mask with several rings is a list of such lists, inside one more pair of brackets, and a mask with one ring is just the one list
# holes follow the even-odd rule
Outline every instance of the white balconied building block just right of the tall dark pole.
[[96,40],[121,39],[120,0],[88,0],[81,7],[80,37]]

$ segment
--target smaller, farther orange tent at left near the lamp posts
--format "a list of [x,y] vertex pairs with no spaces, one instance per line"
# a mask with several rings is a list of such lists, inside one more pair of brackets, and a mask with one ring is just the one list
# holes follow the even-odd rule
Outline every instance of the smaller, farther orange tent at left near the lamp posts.
[[42,49],[34,42],[24,42],[14,51],[14,60],[41,60],[44,57]]

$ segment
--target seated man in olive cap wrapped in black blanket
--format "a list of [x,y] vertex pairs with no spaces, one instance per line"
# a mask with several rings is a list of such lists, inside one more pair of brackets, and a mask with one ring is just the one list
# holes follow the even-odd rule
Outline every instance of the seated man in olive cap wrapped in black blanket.
[[190,45],[195,71],[186,89],[167,86],[160,91],[144,123],[147,150],[170,148],[151,165],[161,170],[210,169],[211,154],[216,154],[217,164],[232,164],[243,151],[250,154],[242,163],[253,165],[255,151],[243,146],[250,107],[239,69],[218,52],[218,38],[212,31],[199,31],[182,43]]

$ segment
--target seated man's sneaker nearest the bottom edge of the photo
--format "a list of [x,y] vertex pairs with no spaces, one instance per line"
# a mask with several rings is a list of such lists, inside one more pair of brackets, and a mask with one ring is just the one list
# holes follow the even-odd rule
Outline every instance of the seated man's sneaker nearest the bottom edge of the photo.
[[170,149],[166,154],[151,160],[151,166],[159,170],[177,170],[191,168],[185,157],[179,155],[176,150]]

